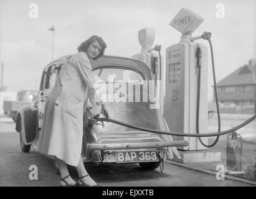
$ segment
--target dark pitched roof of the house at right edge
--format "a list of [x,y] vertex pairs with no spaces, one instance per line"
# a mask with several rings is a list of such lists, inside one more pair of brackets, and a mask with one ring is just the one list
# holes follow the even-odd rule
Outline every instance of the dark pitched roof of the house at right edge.
[[217,86],[253,85],[256,84],[252,65],[244,65],[217,83]]

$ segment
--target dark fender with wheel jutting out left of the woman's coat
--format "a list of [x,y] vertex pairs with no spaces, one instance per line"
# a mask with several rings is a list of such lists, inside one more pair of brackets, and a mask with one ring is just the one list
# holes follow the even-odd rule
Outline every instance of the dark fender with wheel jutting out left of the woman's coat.
[[22,134],[24,144],[31,144],[36,138],[37,109],[32,106],[24,106],[17,112],[16,131]]

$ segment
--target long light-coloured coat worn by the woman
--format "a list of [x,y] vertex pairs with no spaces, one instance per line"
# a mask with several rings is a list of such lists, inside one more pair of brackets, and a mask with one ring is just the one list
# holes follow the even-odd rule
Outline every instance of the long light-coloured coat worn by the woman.
[[82,151],[83,110],[91,106],[93,98],[97,105],[102,104],[95,95],[94,82],[85,52],[73,55],[62,66],[45,103],[38,152],[57,157],[69,165],[78,165]]

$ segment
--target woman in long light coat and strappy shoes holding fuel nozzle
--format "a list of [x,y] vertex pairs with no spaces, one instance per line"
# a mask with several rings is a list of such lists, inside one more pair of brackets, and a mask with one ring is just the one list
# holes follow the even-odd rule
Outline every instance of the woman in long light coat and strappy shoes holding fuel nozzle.
[[108,118],[104,104],[95,94],[95,80],[90,65],[90,59],[102,57],[106,47],[102,38],[96,35],[83,42],[78,47],[78,53],[62,66],[45,103],[37,151],[55,157],[62,186],[77,185],[69,175],[67,164],[75,166],[79,184],[97,185],[87,174],[81,157],[83,109],[86,108],[92,117],[90,101],[95,99],[96,104],[102,106],[102,113]]

